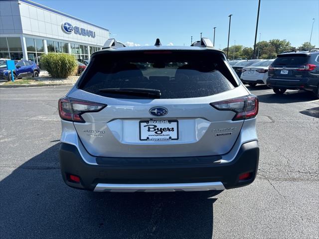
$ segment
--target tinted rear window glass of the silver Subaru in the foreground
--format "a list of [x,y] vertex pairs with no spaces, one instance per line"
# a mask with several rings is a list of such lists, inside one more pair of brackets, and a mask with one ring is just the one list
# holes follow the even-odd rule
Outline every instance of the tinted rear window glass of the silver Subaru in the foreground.
[[203,51],[107,52],[96,55],[79,88],[101,96],[147,96],[101,89],[160,90],[160,99],[205,97],[234,89],[237,83],[220,54]]

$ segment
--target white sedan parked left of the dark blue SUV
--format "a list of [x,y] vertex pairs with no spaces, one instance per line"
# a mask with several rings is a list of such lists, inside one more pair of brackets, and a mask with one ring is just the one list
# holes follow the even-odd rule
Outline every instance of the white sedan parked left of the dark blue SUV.
[[256,86],[257,84],[266,84],[268,77],[268,67],[275,59],[262,60],[244,67],[240,76],[240,80],[249,86]]

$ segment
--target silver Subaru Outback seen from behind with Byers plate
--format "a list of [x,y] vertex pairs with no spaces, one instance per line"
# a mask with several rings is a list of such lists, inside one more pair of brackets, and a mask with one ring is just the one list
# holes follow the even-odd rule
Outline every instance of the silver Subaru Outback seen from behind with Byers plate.
[[257,174],[258,99],[207,38],[109,39],[59,100],[65,183],[97,192],[224,190]]

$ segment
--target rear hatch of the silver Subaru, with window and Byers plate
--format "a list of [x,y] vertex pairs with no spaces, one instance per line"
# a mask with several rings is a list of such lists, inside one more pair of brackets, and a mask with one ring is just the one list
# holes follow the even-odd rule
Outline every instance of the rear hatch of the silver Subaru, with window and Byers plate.
[[107,50],[93,55],[67,97],[70,105],[73,98],[100,107],[74,122],[90,154],[185,157],[227,153],[244,121],[236,109],[248,109],[247,95],[222,52]]

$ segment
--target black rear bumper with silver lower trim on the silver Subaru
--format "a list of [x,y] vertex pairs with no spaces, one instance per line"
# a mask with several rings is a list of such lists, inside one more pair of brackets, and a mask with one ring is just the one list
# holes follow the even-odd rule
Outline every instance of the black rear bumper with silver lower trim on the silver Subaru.
[[[257,141],[242,144],[229,163],[219,163],[216,156],[109,159],[100,157],[98,165],[87,164],[76,146],[60,145],[61,172],[68,186],[125,192],[223,190],[248,185],[257,174],[259,146]],[[242,173],[250,173],[250,178],[239,180]],[[80,182],[72,182],[69,175],[79,176]]]

